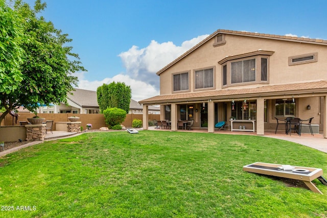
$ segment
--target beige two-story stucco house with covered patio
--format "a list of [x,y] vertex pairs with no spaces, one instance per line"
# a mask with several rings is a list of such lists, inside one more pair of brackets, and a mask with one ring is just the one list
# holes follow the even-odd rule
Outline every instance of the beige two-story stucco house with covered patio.
[[274,117],[314,117],[327,138],[327,40],[217,30],[157,75],[160,95],[139,103],[161,105],[172,131],[177,120],[194,119],[194,128],[214,132],[233,117],[233,129],[264,135]]

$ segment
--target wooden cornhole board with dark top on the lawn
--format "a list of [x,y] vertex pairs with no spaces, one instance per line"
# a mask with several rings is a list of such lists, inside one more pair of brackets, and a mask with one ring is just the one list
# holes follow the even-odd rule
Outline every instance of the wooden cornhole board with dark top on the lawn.
[[262,163],[255,162],[249,165],[243,166],[243,171],[257,174],[264,174],[269,176],[284,177],[288,179],[297,179],[303,181],[313,192],[320,193],[322,192],[311,182],[314,179],[317,179],[324,185],[327,185],[326,180],[322,177],[322,169],[320,168],[311,168],[303,166],[290,166],[292,169],[284,170],[282,164],[273,164],[273,163]]

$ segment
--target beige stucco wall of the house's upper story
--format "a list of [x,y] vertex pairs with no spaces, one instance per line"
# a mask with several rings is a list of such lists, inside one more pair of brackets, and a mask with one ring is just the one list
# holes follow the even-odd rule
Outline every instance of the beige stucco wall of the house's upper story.
[[[213,46],[215,37],[201,45],[198,49],[181,59],[160,74],[160,94],[172,94],[172,74],[190,70],[190,91],[194,91],[194,70],[203,67],[216,67],[216,89],[222,87],[222,66],[218,62],[226,56],[236,56],[259,49],[272,51],[269,58],[269,85],[282,83],[327,80],[327,46],[283,40],[272,40],[237,35],[226,35],[226,44]],[[288,58],[296,55],[318,53],[318,62],[289,66]],[[240,87],[256,87],[263,84],[243,85]],[[237,86],[235,88],[238,88]]]

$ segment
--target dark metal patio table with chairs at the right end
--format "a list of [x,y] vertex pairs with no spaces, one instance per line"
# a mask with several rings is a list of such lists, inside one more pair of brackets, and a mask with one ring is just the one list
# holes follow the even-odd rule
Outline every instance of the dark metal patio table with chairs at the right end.
[[292,131],[294,133],[297,133],[299,136],[301,136],[301,129],[303,125],[306,125],[309,127],[310,134],[313,136],[313,130],[311,126],[312,119],[314,117],[311,117],[309,119],[300,119],[298,117],[286,117],[286,119],[279,119],[275,117],[277,121],[277,126],[275,129],[275,134],[277,133],[278,126],[279,125],[284,125],[285,126],[285,134],[286,135],[291,135]]

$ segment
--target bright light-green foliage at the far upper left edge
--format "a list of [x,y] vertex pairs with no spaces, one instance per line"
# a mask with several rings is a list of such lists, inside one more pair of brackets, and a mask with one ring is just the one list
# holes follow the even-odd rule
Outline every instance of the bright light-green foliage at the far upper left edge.
[[13,92],[22,81],[22,40],[22,19],[6,5],[5,0],[0,0],[0,93]]

